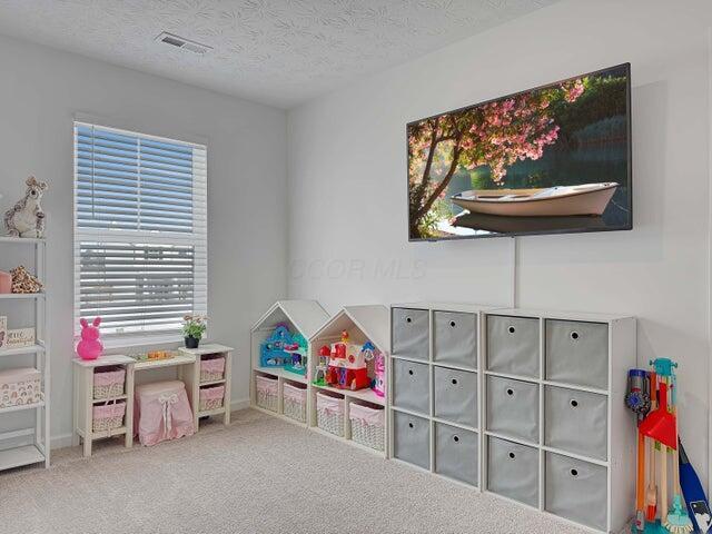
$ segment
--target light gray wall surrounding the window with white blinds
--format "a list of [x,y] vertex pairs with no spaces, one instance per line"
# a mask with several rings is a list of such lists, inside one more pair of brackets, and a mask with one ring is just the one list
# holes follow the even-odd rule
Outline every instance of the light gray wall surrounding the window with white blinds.
[[[52,435],[67,443],[71,432],[76,112],[119,128],[206,140],[210,336],[237,348],[233,398],[247,400],[249,327],[286,291],[286,113],[3,37],[0,72],[0,208],[23,194],[28,175],[50,182],[43,206]],[[14,259],[0,251],[0,269]]]

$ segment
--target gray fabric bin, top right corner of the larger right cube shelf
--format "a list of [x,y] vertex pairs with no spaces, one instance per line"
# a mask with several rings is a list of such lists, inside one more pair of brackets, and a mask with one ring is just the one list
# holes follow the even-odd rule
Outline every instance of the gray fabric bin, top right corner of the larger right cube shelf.
[[609,387],[609,325],[546,320],[546,379]]

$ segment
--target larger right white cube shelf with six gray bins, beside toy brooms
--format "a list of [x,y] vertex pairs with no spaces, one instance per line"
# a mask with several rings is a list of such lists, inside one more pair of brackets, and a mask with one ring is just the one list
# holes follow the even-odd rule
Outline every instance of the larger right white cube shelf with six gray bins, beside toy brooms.
[[[497,342],[491,343],[488,335]],[[506,337],[520,349],[502,358],[497,343],[506,343]],[[620,532],[632,515],[635,498],[635,428],[624,403],[627,370],[636,365],[635,319],[607,314],[491,310],[483,323],[481,347],[483,487],[596,532]],[[522,364],[524,359],[530,363]],[[516,369],[506,372],[507,366]],[[495,402],[496,390],[504,390],[502,398],[506,398],[508,387],[515,389],[512,398],[518,394],[522,398],[528,390],[535,400],[531,405],[522,402],[515,416],[531,416],[535,423],[532,436],[502,428],[507,426],[502,419],[514,411],[497,407],[502,403]],[[503,444],[513,451],[520,448],[523,454],[517,458],[531,453],[532,481],[536,479],[531,503],[516,496],[524,495],[521,487],[491,487],[498,485],[500,475],[491,468],[502,465],[496,448]],[[520,479],[526,477],[524,471],[523,466],[517,468]],[[506,495],[510,492],[515,495]]]

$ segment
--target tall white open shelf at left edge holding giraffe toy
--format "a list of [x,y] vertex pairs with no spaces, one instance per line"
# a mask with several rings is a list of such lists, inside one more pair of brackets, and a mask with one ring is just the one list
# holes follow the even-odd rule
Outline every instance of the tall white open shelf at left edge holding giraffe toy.
[[[33,274],[44,284],[44,291],[47,291],[47,245],[44,239],[0,237],[0,251],[2,251],[0,253],[0,257],[6,256],[7,253],[4,250],[8,250],[10,247],[29,247],[31,249],[33,254]],[[9,269],[13,266],[2,265],[0,267]],[[49,467],[51,405],[50,349],[49,340],[47,339],[47,293],[31,295],[0,295],[0,305],[2,305],[2,303],[6,300],[28,300],[31,303],[34,308],[34,336],[37,342],[34,345],[29,347],[18,347],[0,350],[0,365],[2,365],[2,359],[7,357],[26,356],[31,359],[31,365],[42,374],[42,393],[44,395],[44,400],[32,405],[10,407],[0,411],[0,471],[39,463],[44,463],[44,467]],[[6,310],[0,310],[0,315],[6,315]],[[8,313],[7,315],[8,322],[11,322],[12,317],[10,313]],[[27,366],[28,364],[23,365]],[[34,411],[34,422],[32,426],[18,428],[14,431],[1,432],[4,426],[3,417],[7,417],[7,414],[17,414],[18,412],[30,409]]]

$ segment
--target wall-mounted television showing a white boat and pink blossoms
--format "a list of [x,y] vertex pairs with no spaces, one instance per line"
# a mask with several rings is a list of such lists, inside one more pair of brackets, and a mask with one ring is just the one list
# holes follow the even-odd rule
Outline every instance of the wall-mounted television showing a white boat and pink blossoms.
[[411,240],[632,228],[630,63],[407,125]]

